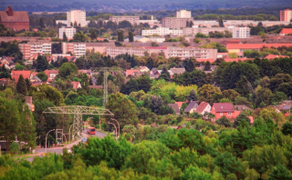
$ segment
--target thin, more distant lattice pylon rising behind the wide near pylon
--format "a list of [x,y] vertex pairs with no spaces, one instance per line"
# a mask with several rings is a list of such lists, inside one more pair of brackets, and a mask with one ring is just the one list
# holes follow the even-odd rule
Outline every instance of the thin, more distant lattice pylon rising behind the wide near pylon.
[[120,67],[113,66],[113,67],[91,67],[92,72],[101,72],[103,71],[103,106],[105,107],[108,103],[108,72],[112,71],[122,71]]

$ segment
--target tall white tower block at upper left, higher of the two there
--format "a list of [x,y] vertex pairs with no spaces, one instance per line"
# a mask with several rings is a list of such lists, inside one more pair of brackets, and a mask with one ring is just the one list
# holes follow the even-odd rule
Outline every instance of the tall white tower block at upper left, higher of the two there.
[[71,26],[71,23],[74,25],[75,22],[81,27],[88,25],[86,22],[86,12],[81,10],[71,10],[67,12],[67,25]]

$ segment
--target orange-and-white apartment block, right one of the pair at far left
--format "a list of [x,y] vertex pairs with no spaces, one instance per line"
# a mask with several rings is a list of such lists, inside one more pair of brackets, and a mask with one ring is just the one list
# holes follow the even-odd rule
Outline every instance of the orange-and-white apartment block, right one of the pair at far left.
[[71,52],[76,57],[80,57],[86,54],[85,43],[62,43],[62,54]]

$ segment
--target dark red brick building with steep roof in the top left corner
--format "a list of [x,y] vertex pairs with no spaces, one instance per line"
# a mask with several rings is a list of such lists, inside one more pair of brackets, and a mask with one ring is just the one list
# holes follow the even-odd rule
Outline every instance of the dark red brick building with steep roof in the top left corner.
[[29,30],[29,18],[26,11],[13,11],[8,6],[5,11],[0,11],[0,24],[10,28],[14,31],[20,31],[25,29]]

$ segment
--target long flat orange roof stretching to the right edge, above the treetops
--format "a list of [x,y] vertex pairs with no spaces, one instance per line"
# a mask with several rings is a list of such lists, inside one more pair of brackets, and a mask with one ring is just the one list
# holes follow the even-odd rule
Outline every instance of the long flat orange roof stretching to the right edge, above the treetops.
[[292,44],[227,44],[227,49],[260,49],[263,47],[280,47],[280,46],[292,46]]

